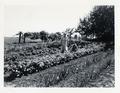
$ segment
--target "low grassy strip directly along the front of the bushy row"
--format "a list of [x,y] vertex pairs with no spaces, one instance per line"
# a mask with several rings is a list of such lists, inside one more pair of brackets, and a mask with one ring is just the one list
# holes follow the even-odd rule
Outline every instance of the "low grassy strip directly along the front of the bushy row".
[[[48,87],[58,85],[61,81],[67,81],[69,77],[84,71],[92,64],[105,59],[108,53],[99,52],[76,60],[61,64],[55,67],[48,68],[36,74],[23,76],[13,80],[11,85],[14,87]],[[10,85],[6,83],[5,86]]]

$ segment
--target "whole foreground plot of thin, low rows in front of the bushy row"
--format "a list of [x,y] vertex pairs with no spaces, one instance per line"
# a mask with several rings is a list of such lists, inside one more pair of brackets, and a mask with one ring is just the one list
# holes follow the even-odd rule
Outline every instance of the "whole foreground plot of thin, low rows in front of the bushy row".
[[85,87],[89,85],[88,81],[96,80],[111,64],[113,64],[112,53],[99,52],[36,74],[16,78],[5,86],[11,84],[14,87]]

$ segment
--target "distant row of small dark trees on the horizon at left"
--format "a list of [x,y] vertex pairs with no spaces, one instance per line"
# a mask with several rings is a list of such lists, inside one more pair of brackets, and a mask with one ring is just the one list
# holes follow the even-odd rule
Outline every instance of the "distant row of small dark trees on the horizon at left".
[[21,43],[21,40],[23,39],[23,43],[26,42],[26,38],[30,38],[30,39],[41,39],[43,42],[46,41],[54,41],[54,40],[60,40],[62,33],[60,32],[56,32],[56,33],[47,33],[46,31],[41,31],[41,32],[26,32],[23,33],[22,31],[20,31],[18,34],[19,35],[19,41],[18,43]]

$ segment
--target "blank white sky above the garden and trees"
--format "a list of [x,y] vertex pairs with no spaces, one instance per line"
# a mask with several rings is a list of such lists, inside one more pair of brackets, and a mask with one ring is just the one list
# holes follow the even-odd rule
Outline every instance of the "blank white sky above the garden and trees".
[[7,4],[4,7],[4,36],[19,31],[49,33],[76,28],[80,18],[87,16],[94,5],[77,0],[42,1],[39,4]]

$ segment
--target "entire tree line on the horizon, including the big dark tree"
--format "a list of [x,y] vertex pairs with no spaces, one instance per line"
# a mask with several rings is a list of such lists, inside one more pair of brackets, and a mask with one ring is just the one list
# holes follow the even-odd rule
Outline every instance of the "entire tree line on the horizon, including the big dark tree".
[[[83,19],[80,19],[79,25],[76,29],[68,28],[64,33],[71,40],[71,35],[74,32],[79,32],[82,37],[90,39],[97,39],[103,42],[114,42],[114,6],[95,6],[90,14]],[[46,42],[48,40],[60,40],[64,34],[60,32],[51,33],[41,32],[28,32],[19,33],[19,43],[23,37],[25,43],[26,37],[30,39],[41,39]]]

